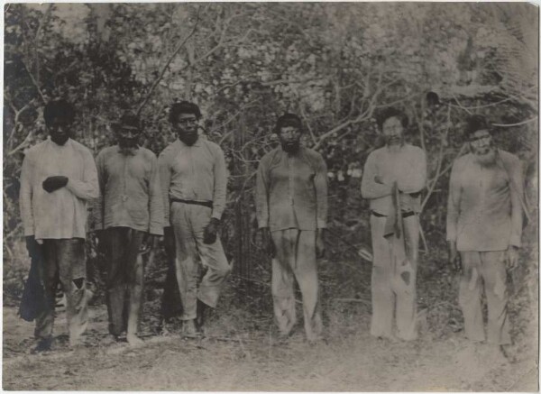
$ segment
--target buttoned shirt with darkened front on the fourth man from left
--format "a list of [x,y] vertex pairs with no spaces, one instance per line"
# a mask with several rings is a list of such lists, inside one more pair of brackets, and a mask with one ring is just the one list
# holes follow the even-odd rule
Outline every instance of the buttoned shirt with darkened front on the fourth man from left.
[[301,147],[289,154],[281,147],[262,157],[256,184],[259,227],[316,230],[326,227],[327,171],[323,157]]

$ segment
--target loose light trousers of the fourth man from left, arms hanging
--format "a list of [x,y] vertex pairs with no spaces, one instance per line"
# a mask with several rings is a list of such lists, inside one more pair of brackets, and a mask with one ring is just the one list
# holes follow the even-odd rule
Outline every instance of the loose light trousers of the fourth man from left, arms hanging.
[[297,279],[307,339],[316,340],[323,328],[319,311],[316,232],[291,228],[274,231],[271,236],[276,247],[276,257],[272,259],[271,290],[280,334],[288,335],[297,322],[293,282]]

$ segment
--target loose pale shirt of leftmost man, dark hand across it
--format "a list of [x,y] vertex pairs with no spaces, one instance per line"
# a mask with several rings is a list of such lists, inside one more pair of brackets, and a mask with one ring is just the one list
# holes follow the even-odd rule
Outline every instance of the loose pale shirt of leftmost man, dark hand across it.
[[[68,177],[64,188],[46,192],[42,183],[52,176]],[[96,164],[79,142],[50,141],[32,147],[23,160],[20,207],[24,235],[39,239],[85,238],[87,201],[98,195]]]

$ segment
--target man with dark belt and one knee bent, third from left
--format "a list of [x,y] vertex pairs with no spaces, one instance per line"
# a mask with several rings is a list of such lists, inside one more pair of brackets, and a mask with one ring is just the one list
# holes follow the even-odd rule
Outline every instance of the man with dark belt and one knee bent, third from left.
[[[171,105],[170,123],[179,138],[159,159],[165,223],[172,226],[175,236],[180,320],[187,337],[202,333],[208,308],[216,307],[231,270],[217,236],[227,186],[224,152],[199,137],[200,118],[199,107],[193,103]],[[198,262],[206,273],[197,287]]]

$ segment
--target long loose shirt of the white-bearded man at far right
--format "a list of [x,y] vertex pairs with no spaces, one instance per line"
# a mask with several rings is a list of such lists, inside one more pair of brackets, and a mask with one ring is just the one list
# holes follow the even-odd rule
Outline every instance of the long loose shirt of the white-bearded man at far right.
[[472,153],[454,161],[449,181],[447,241],[461,252],[503,251],[520,246],[523,176],[520,160],[498,151],[481,166]]

